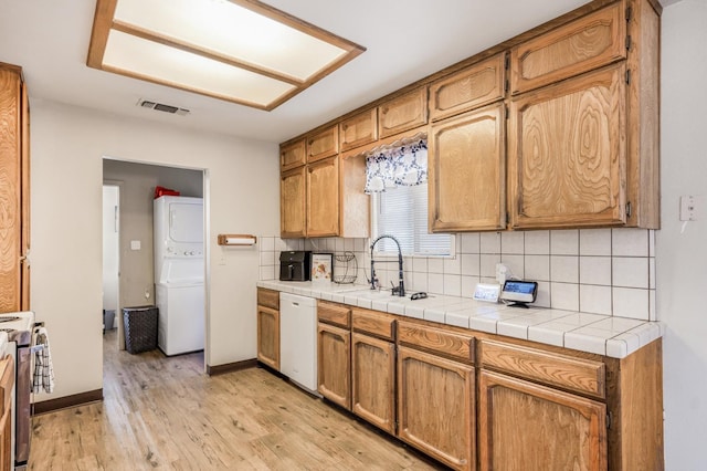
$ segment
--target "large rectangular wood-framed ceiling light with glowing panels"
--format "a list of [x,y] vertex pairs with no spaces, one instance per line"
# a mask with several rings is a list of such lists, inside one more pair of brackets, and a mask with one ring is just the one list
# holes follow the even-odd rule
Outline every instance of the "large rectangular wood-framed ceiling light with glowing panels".
[[363,51],[256,0],[97,0],[86,63],[271,111]]

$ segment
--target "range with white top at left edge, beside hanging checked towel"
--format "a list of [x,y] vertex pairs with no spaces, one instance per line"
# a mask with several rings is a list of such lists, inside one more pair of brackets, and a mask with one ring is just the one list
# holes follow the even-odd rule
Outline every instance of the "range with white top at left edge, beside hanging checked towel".
[[32,438],[32,329],[31,311],[0,314],[0,331],[8,333],[8,353],[14,359],[12,460],[15,470],[27,469]]

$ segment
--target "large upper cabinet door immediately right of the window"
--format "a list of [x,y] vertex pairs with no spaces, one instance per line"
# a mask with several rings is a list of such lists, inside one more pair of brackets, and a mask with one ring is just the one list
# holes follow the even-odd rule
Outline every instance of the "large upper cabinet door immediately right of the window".
[[429,154],[432,232],[506,226],[503,103],[433,124]]

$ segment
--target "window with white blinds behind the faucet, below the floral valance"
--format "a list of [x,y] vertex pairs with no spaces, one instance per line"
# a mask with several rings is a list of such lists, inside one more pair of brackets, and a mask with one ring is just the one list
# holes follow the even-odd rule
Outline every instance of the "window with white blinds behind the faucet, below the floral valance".
[[[400,186],[371,195],[372,239],[394,236],[404,255],[451,255],[454,237],[449,233],[428,233],[428,184]],[[395,242],[381,239],[378,252],[398,253]]]

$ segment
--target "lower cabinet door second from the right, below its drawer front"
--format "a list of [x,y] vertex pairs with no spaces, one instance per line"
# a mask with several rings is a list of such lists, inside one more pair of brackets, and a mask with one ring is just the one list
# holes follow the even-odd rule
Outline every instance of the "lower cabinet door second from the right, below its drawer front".
[[453,469],[475,469],[474,405],[473,367],[398,347],[401,440]]

